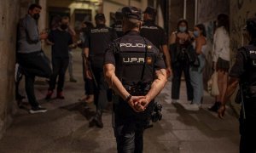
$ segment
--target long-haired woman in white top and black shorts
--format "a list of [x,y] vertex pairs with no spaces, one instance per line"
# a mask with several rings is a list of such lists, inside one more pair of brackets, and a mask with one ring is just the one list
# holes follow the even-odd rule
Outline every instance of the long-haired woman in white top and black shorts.
[[230,21],[226,14],[218,15],[218,28],[213,37],[212,68],[218,72],[218,91],[216,101],[210,111],[218,111],[219,106],[224,101],[224,94],[227,89],[228,73],[230,69]]

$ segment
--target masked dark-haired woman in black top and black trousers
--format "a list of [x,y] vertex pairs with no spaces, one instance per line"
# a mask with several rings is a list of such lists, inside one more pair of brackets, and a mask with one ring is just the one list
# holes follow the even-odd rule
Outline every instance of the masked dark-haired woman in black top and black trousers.
[[[184,73],[188,101],[193,99],[193,88],[189,76],[189,55],[188,50],[192,48],[191,34],[187,20],[179,20],[177,31],[172,32],[169,39],[170,54],[172,61],[172,103],[179,99],[180,83],[182,73]],[[193,48],[192,48],[193,49]]]

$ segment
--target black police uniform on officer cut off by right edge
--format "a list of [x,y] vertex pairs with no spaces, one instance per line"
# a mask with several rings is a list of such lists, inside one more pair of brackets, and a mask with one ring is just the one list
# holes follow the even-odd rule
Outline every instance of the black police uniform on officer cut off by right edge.
[[[256,41],[238,49],[236,63],[230,71],[230,77],[240,78],[243,90],[244,110],[240,117],[240,152],[256,152],[256,98],[248,95],[247,89],[256,82]],[[254,84],[255,86],[255,84]],[[246,119],[243,117],[245,112]]]

